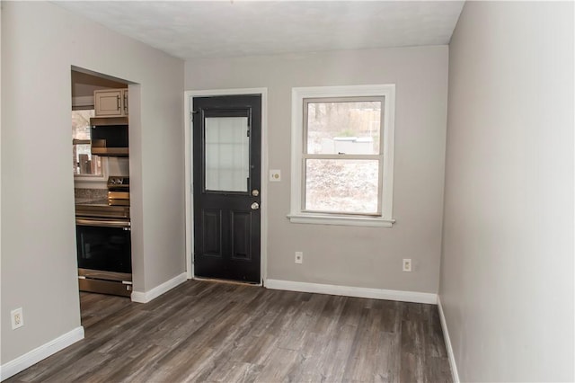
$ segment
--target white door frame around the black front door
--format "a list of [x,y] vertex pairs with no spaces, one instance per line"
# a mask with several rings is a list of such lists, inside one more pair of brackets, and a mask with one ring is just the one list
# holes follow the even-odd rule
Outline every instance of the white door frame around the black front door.
[[260,251],[260,279],[261,285],[267,280],[268,265],[268,88],[239,88],[239,89],[213,89],[200,91],[185,91],[184,102],[184,140],[185,149],[185,184],[186,184],[186,273],[188,279],[194,279],[194,236],[193,236],[193,136],[191,134],[192,103],[194,97],[236,95],[236,94],[261,94],[261,251]]

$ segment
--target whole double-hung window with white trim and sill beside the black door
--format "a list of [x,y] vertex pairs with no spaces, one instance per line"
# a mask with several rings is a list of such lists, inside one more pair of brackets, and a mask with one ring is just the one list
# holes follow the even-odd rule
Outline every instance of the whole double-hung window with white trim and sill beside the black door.
[[394,85],[294,88],[295,223],[391,227]]

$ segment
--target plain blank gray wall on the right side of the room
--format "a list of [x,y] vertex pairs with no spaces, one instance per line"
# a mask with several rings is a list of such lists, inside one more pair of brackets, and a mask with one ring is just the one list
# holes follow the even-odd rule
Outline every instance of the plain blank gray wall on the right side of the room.
[[573,3],[467,2],[440,299],[462,381],[573,381]]

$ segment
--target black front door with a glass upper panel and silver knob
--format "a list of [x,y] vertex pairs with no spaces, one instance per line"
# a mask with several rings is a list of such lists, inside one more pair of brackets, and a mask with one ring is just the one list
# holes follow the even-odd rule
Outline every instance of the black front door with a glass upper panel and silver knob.
[[261,95],[193,99],[194,273],[260,282]]

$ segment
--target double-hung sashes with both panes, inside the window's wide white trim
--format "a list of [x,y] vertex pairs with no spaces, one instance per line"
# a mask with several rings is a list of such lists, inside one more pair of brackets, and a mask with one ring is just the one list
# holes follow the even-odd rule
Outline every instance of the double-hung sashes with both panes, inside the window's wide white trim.
[[302,211],[381,215],[383,97],[303,103]]

